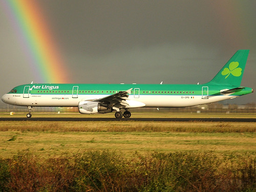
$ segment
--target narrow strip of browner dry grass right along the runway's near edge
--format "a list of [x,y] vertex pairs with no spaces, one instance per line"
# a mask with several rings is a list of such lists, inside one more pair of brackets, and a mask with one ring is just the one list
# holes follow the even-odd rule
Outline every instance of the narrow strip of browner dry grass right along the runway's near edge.
[[2,121],[0,131],[21,132],[256,132],[254,122]]

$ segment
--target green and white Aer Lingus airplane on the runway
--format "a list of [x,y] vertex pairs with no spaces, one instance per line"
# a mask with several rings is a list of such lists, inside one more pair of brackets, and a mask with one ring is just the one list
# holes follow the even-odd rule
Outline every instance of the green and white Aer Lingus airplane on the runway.
[[[81,114],[111,113],[130,118],[132,108],[181,108],[253,93],[241,87],[249,50],[238,50],[209,82],[204,84],[57,84],[32,83],[13,88],[2,97],[12,105],[78,107]],[[121,112],[124,111],[123,113]]]

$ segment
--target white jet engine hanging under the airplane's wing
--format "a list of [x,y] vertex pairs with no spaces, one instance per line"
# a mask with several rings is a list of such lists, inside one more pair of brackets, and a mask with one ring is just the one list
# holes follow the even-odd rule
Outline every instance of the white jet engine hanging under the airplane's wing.
[[102,106],[101,103],[95,101],[80,101],[78,103],[78,110],[81,114],[94,114],[94,113],[111,113],[112,109]]

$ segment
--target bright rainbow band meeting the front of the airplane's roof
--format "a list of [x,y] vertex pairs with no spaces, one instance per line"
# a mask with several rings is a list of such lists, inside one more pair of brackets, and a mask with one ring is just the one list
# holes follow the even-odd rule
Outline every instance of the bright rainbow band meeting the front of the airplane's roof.
[[63,62],[37,1],[3,1],[8,18],[29,59],[35,80],[66,83],[68,69]]

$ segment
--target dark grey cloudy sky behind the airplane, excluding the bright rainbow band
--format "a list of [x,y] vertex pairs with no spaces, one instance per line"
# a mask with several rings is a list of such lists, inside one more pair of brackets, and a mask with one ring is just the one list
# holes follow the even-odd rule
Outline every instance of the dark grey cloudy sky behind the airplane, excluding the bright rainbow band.
[[[256,1],[38,2],[71,83],[205,83],[250,49],[241,86],[256,89]],[[4,9],[1,96],[36,78]],[[256,102],[255,93],[228,102]]]

